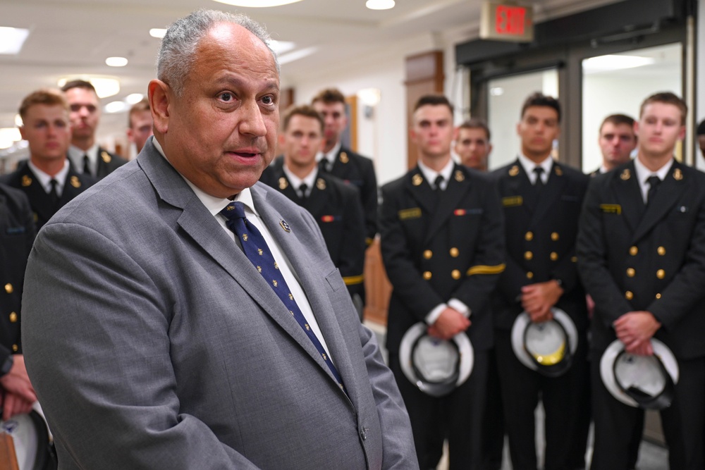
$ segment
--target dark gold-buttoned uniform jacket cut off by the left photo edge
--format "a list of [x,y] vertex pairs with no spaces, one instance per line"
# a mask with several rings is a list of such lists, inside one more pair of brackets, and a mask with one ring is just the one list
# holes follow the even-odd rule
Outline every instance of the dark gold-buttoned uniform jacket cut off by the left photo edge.
[[34,216],[27,197],[0,185],[0,364],[10,354],[22,353],[20,300],[34,241]]

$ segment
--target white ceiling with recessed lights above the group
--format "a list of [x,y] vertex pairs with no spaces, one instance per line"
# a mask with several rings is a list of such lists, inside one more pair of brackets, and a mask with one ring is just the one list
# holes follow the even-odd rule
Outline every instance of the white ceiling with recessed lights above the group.
[[[615,0],[537,0],[535,19],[562,16]],[[274,39],[315,52],[282,66],[283,82],[305,80],[317,70],[344,66],[380,47],[419,35],[477,36],[480,0],[397,0],[372,11],[364,0],[303,0],[274,8],[236,8],[212,0],[2,0],[0,26],[25,27],[30,36],[16,56],[0,55],[0,128],[12,127],[19,101],[62,77],[111,75],[121,92],[103,104],[145,93],[154,78],[159,39],[149,29],[166,27],[197,8],[240,11],[264,23]],[[105,65],[109,56],[128,66]],[[104,114],[101,129],[124,128],[125,113]]]

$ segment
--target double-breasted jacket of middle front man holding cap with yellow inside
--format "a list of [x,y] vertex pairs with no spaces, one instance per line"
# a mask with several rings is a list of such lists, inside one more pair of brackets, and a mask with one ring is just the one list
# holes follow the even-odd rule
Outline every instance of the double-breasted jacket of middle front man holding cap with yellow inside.
[[503,206],[507,250],[507,268],[492,301],[495,326],[512,328],[523,311],[523,286],[556,279],[564,290],[556,307],[570,315],[579,330],[586,330],[575,240],[589,177],[554,161],[546,185],[537,193],[518,159],[493,175]]

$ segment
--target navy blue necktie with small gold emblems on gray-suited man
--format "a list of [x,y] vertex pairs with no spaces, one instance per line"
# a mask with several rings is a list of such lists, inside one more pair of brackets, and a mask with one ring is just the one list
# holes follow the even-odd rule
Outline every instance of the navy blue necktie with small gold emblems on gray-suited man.
[[299,323],[299,326],[304,330],[304,333],[306,333],[319,354],[321,354],[328,368],[331,369],[333,377],[338,381],[338,385],[340,385],[341,389],[345,390],[343,379],[340,373],[338,373],[338,369],[336,369],[335,364],[333,364],[331,358],[326,354],[326,350],[323,349],[323,345],[321,345],[316,334],[306,322],[304,315],[301,313],[301,309],[294,300],[294,296],[291,294],[288,285],[286,285],[284,276],[281,275],[279,266],[276,264],[276,261],[274,261],[274,256],[272,256],[269,247],[264,241],[264,237],[262,237],[262,233],[259,233],[257,227],[252,225],[252,223],[245,218],[245,204],[242,202],[231,202],[220,213],[225,216],[228,228],[235,233],[235,236],[240,238],[240,244],[243,246],[243,251],[247,259],[252,261],[252,264],[255,265],[257,271],[262,274],[262,277],[269,284],[269,287],[274,290],[289,313],[292,314],[294,319]]

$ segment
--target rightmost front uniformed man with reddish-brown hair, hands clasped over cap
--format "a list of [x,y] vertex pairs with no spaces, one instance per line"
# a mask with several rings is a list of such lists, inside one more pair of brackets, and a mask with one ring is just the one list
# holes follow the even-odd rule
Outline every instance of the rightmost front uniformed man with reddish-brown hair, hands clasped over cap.
[[627,468],[644,415],[608,392],[601,357],[615,340],[627,353],[651,356],[652,338],[678,361],[673,401],[661,410],[670,468],[705,468],[705,175],[673,158],[686,113],[673,93],[645,99],[637,157],[593,178],[585,197],[577,252],[595,302],[593,469]]

